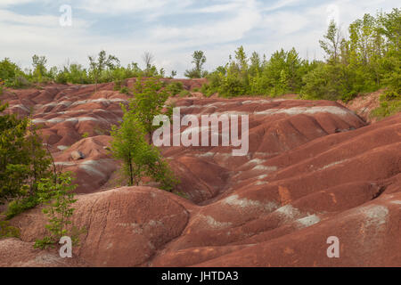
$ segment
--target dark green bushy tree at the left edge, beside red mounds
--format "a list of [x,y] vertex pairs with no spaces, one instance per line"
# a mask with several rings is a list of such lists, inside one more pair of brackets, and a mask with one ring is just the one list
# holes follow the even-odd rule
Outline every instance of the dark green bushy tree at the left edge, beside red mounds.
[[29,118],[6,114],[0,104],[0,205],[6,218],[37,206],[37,184],[51,175],[51,155]]

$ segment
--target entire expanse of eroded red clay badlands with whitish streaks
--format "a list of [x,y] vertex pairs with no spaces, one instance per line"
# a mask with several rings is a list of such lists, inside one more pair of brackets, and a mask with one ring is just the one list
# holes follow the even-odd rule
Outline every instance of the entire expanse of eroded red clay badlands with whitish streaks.
[[[338,102],[173,99],[183,115],[250,118],[247,156],[161,149],[185,199],[154,183],[119,187],[109,130],[127,96],[112,89],[46,85],[2,96],[12,112],[33,110],[56,164],[76,175],[73,220],[87,231],[73,258],[33,249],[45,216],[29,210],[11,222],[20,239],[0,240],[0,266],[401,265],[401,114],[371,124]],[[332,236],[340,258],[327,256]]]

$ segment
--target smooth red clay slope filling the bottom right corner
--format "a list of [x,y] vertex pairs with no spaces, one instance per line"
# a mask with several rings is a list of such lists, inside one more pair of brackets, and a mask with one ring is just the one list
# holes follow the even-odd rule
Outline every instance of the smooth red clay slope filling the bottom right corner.
[[[399,187],[399,186],[398,186]],[[400,266],[401,193],[352,208],[285,236],[210,258],[197,266]],[[300,220],[305,224],[306,219]],[[328,258],[329,237],[340,239],[340,258]],[[251,242],[252,240],[248,240]],[[253,240],[255,242],[256,240]],[[192,257],[193,259],[193,257]],[[201,260],[201,258],[200,258]]]

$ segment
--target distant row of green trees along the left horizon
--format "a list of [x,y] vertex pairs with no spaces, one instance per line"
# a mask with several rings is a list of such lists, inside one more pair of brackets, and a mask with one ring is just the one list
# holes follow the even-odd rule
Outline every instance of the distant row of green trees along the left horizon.
[[[0,81],[4,87],[22,88],[38,83],[60,84],[98,84],[115,81],[118,85],[121,80],[131,77],[167,77],[166,70],[153,64],[154,57],[151,53],[143,54],[144,68],[131,62],[127,67],[120,64],[119,58],[101,51],[96,56],[88,56],[88,68],[79,63],[69,63],[61,69],[57,67],[47,68],[45,56],[37,54],[32,56],[32,67],[22,70],[9,58],[0,61]],[[175,77],[176,70],[169,77]]]

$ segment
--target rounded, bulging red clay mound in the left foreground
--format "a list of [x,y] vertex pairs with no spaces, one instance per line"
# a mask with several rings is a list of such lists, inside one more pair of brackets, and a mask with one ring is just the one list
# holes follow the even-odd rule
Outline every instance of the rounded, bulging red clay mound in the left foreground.
[[[171,196],[174,195],[149,187],[126,187],[78,196],[74,224],[86,232],[80,236],[80,245],[73,254],[91,266],[146,265],[158,248],[175,239],[187,223],[186,208]],[[45,234],[40,209],[17,216],[12,224],[21,227],[20,239],[30,247]],[[3,242],[8,245],[16,241]],[[29,248],[23,249],[29,251]],[[5,264],[8,256],[0,257],[0,265]],[[29,264],[21,264],[24,265]]]

